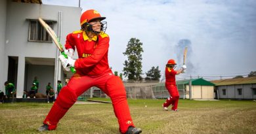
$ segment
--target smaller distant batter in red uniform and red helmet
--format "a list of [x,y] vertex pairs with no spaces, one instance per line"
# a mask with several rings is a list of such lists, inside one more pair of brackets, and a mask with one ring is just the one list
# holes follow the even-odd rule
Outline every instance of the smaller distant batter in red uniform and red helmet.
[[186,65],[182,65],[181,69],[175,71],[175,60],[169,59],[166,67],[165,67],[165,87],[170,93],[170,97],[168,97],[163,103],[163,110],[168,110],[167,107],[172,105],[171,110],[178,111],[178,101],[179,101],[179,91],[177,89],[175,75],[179,75],[186,69]]

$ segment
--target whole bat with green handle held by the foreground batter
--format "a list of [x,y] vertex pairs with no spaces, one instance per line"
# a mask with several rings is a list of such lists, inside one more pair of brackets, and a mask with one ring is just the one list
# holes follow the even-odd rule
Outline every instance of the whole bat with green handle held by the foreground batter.
[[[64,49],[62,47],[62,44],[60,43],[60,40],[58,39],[57,35],[55,34],[55,32],[53,31],[53,29],[45,23],[45,21],[43,21],[43,19],[38,18],[39,22],[41,25],[43,25],[43,27],[45,28],[45,30],[47,31],[47,33],[49,33],[49,35],[51,36],[51,38],[53,39],[53,42],[56,44],[56,46],[58,47],[58,50],[60,50],[61,54],[65,57],[68,58],[68,56],[64,53]],[[72,71],[72,73],[75,73],[75,68],[74,67],[70,67],[70,70]]]

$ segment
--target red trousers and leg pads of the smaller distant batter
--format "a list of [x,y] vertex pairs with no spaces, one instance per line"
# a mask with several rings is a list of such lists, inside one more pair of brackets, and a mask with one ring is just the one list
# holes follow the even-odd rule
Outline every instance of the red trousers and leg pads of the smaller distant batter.
[[171,110],[177,110],[180,97],[177,86],[174,84],[165,83],[165,87],[170,93],[170,97],[168,97],[165,103],[163,103],[163,107],[169,107],[169,105],[172,105]]

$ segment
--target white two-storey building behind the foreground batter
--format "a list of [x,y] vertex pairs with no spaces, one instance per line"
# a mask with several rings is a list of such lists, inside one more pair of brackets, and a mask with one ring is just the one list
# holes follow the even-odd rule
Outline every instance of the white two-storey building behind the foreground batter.
[[9,81],[16,86],[16,97],[30,90],[35,76],[40,93],[48,82],[56,90],[57,80],[66,75],[58,61],[58,50],[37,19],[43,18],[65,44],[66,35],[80,29],[81,8],[43,5],[41,0],[0,1],[0,88]]

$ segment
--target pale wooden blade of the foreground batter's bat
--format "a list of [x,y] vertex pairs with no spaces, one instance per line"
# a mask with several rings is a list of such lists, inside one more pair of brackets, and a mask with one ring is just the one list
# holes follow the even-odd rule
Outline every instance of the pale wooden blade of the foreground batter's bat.
[[64,49],[62,48],[62,44],[60,43],[60,41],[58,41],[58,37],[55,34],[55,32],[53,31],[53,29],[45,21],[43,21],[43,19],[38,18],[38,20],[39,20],[40,24],[45,28],[47,33],[49,33],[49,35],[53,39],[53,42],[56,44],[56,46],[58,47],[60,52],[63,52]]

